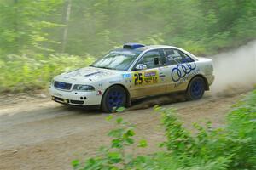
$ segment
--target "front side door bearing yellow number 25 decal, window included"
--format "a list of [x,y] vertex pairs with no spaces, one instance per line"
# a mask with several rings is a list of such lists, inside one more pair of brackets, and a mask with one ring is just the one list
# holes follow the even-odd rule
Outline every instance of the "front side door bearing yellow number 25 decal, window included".
[[[146,65],[147,69],[137,70],[136,65]],[[150,50],[143,54],[132,70],[131,98],[163,94],[166,86],[160,80],[160,68],[163,66],[163,55],[160,50]]]

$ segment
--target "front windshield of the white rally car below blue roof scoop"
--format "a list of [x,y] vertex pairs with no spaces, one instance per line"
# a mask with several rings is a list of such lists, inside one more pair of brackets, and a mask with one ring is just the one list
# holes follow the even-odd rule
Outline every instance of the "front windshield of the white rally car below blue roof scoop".
[[102,59],[98,59],[94,64],[90,66],[127,71],[139,54],[139,52],[126,50],[111,51],[109,54],[105,55]]

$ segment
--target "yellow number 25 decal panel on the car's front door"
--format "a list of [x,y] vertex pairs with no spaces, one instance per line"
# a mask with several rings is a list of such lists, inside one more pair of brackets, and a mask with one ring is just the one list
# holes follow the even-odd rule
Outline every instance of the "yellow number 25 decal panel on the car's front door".
[[158,71],[142,71],[133,73],[132,80],[135,86],[150,85],[157,83],[159,79]]

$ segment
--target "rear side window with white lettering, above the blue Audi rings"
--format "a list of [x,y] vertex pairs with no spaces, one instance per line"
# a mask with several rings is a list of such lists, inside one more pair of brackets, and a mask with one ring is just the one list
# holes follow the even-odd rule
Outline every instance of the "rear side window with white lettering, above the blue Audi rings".
[[184,54],[177,49],[164,49],[164,54],[166,56],[166,65],[178,65],[194,61],[187,54]]

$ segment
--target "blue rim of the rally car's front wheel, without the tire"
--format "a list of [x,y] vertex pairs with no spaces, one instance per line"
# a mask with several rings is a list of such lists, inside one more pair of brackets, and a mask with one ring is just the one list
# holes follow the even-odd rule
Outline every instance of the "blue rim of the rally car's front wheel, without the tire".
[[107,98],[108,107],[113,110],[113,108],[119,108],[125,103],[125,92],[122,90],[110,91]]

